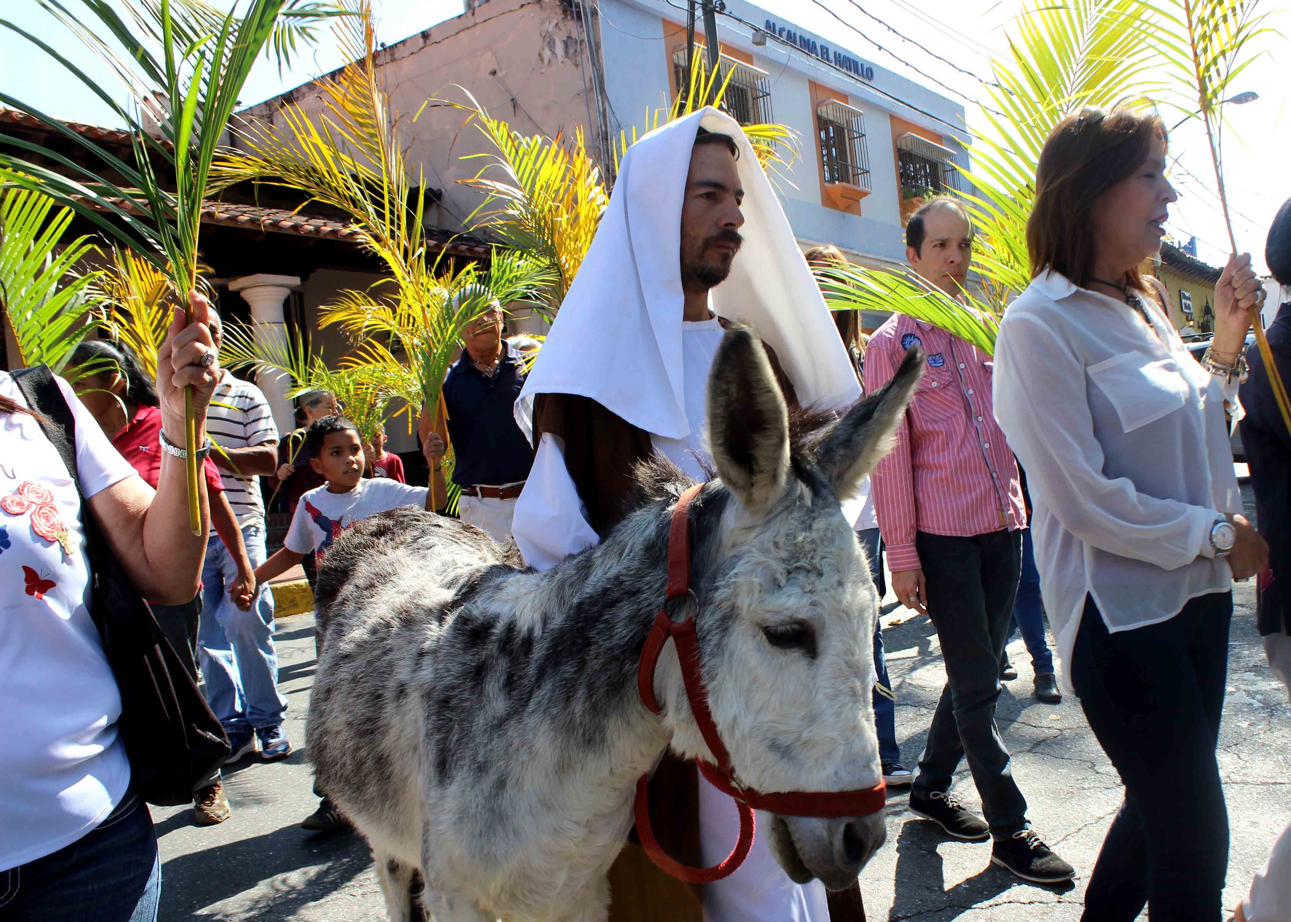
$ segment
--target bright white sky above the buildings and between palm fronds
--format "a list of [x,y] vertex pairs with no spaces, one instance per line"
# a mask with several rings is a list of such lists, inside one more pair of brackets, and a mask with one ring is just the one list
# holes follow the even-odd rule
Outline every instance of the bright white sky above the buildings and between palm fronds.
[[[230,3],[216,1],[226,6]],[[1020,5],[1020,0],[757,1],[773,17],[824,35],[837,45],[856,52],[868,63],[950,96],[964,105],[970,129],[982,124],[976,103],[988,98],[979,77],[989,79],[990,56],[1007,48],[1006,28]],[[106,71],[97,66],[98,62],[85,59],[84,50],[74,39],[61,34],[61,27],[40,9],[37,0],[9,0],[4,5],[5,15],[17,26],[63,52],[76,54],[77,63],[94,79],[106,79]],[[1285,65],[1291,52],[1291,40],[1286,37],[1291,34],[1291,13],[1281,0],[1277,4],[1264,0],[1264,5],[1270,10],[1283,9],[1270,23],[1272,34],[1257,45],[1257,50],[1264,52],[1263,57],[1241,75],[1239,85],[1233,90],[1234,94],[1255,90],[1260,98],[1225,108],[1232,132],[1225,136],[1224,146],[1225,187],[1238,249],[1251,252],[1261,271],[1268,225],[1282,201],[1291,196],[1291,172],[1286,169],[1286,151],[1291,150],[1291,111],[1287,111],[1291,80],[1286,77]],[[462,0],[374,0],[374,8],[378,40],[394,43],[460,15],[463,4]],[[309,49],[281,76],[272,63],[262,61],[253,71],[243,99],[247,105],[259,102],[343,63],[327,40]],[[75,77],[25,39],[3,28],[0,89],[56,118],[93,124],[116,121],[110,110],[90,98]],[[1168,119],[1168,124],[1177,120],[1177,116]],[[1170,145],[1170,158],[1175,161],[1171,178],[1180,200],[1171,207],[1167,230],[1179,243],[1186,243],[1195,235],[1198,256],[1211,265],[1223,265],[1229,253],[1228,231],[1214,191],[1215,174],[1201,123],[1193,119],[1172,130]]]

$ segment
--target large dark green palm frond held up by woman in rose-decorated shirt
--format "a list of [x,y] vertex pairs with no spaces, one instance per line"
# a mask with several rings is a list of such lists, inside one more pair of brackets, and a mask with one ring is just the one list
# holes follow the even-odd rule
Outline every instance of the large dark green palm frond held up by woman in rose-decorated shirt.
[[[198,231],[210,164],[252,66],[266,44],[288,54],[311,23],[340,10],[314,0],[249,0],[241,15],[236,8],[225,13],[204,0],[81,0],[83,13],[61,0],[37,3],[108,66],[124,85],[128,103],[37,36],[6,19],[0,26],[44,49],[107,103],[130,132],[133,158],[125,163],[94,139],[0,92],[0,102],[34,115],[88,154],[77,163],[40,142],[5,136],[3,141],[22,154],[0,152],[0,178],[39,189],[136,249],[167,274],[173,296],[187,309],[187,292],[198,284]],[[147,132],[145,111],[156,120],[160,137]],[[40,165],[41,158],[70,176]],[[123,177],[121,185],[102,178],[101,161]],[[169,191],[172,183],[174,191]],[[200,533],[191,389],[186,405],[188,524]]]

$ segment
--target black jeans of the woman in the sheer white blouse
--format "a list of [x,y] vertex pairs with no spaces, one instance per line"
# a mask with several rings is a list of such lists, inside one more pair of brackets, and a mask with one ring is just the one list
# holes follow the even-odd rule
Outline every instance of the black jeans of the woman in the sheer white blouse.
[[1112,634],[1086,599],[1072,684],[1126,799],[1084,894],[1088,922],[1216,922],[1228,808],[1215,745],[1233,594],[1192,599],[1168,621]]

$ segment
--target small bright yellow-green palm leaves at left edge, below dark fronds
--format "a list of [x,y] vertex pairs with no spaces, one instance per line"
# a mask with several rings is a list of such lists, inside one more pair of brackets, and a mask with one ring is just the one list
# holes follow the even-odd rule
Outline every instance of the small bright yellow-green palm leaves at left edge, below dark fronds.
[[76,271],[94,245],[85,236],[62,245],[72,217],[70,208],[56,210],[52,199],[36,192],[12,189],[0,195],[0,303],[18,359],[58,373],[92,329],[96,305],[96,272]]

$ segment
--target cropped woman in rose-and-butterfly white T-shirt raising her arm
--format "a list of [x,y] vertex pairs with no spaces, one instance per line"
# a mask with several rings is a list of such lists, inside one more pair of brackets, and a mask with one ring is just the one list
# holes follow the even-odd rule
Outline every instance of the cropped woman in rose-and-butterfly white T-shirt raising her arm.
[[[198,440],[219,365],[194,296],[158,354],[161,429],[183,446],[183,387]],[[148,808],[117,736],[121,696],[89,604],[83,513],[142,595],[198,593],[205,535],[188,529],[183,461],[161,456],[156,491],[103,435],[66,381],[76,474],[63,465],[13,377],[0,372],[0,919],[150,922],[161,886]],[[161,451],[161,446],[156,446]],[[205,480],[199,478],[203,522]]]

